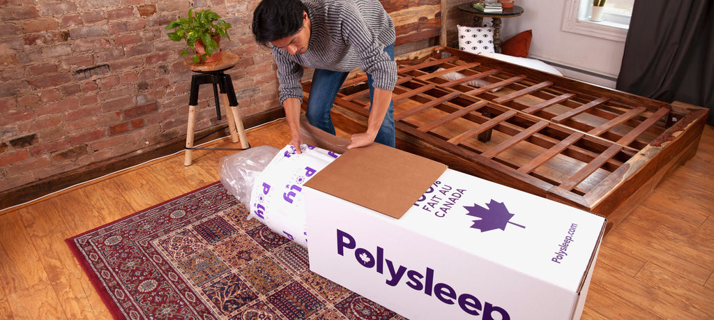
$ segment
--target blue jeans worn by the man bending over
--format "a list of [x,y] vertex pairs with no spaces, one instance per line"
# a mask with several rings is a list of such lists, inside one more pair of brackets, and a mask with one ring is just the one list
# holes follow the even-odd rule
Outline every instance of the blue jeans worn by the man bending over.
[[[394,60],[394,44],[384,48],[384,51]],[[330,134],[335,134],[335,126],[332,123],[330,110],[332,109],[337,92],[340,90],[345,79],[347,79],[348,74],[348,72],[315,69],[310,96],[308,97],[308,109],[305,113],[309,124]],[[372,75],[367,74],[370,110],[372,109],[372,98],[374,96],[374,86],[372,82]],[[394,101],[389,101],[389,109],[384,116],[382,126],[379,127],[377,137],[374,139],[375,142],[391,147],[394,147],[395,142],[393,105]]]

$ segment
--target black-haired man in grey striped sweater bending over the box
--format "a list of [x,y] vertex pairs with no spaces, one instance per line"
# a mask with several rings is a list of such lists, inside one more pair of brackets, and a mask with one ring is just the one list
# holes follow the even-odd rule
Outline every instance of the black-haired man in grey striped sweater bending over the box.
[[378,0],[263,0],[253,12],[253,36],[271,49],[278,65],[280,101],[300,152],[300,79],[314,68],[306,118],[335,134],[330,110],[350,71],[367,74],[370,114],[367,131],[353,134],[348,149],[378,142],[394,146],[392,90],[394,23]]

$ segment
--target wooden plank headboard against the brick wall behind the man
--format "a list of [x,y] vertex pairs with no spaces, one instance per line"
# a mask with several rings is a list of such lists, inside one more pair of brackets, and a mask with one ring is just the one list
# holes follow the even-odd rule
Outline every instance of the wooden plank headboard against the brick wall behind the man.
[[439,43],[441,36],[441,0],[380,0],[392,16],[397,39],[395,46],[427,41]]

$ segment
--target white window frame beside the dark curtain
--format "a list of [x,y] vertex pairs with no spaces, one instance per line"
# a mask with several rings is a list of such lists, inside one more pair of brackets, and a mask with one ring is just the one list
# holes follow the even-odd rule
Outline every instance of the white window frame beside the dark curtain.
[[624,14],[605,12],[605,20],[590,21],[588,16],[590,16],[591,7],[592,1],[590,0],[566,0],[561,30],[625,42],[630,26],[629,17]]

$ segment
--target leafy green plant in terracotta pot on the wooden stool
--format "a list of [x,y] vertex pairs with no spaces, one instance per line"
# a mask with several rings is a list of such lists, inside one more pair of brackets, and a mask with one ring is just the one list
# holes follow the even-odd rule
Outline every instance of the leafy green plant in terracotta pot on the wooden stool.
[[167,35],[173,41],[186,41],[189,49],[181,51],[181,55],[193,53],[193,63],[217,61],[221,59],[221,37],[231,39],[228,29],[231,24],[221,20],[210,9],[201,10],[194,14],[193,9],[188,9],[188,18],[180,18],[169,22],[166,29],[176,29]]

